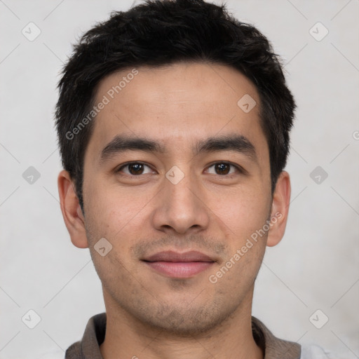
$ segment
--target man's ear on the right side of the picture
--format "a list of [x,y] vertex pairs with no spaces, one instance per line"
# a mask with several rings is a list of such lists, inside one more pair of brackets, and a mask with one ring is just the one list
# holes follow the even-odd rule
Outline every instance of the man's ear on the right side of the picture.
[[277,245],[284,236],[285,226],[290,205],[290,177],[289,173],[282,171],[278,177],[276,189],[273,193],[271,207],[270,229],[266,245]]

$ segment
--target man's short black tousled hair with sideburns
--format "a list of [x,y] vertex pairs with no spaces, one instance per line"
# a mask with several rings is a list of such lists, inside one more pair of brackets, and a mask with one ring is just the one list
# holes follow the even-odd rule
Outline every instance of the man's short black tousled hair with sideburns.
[[74,180],[82,210],[83,160],[93,129],[93,121],[84,119],[89,119],[97,84],[128,67],[182,61],[228,65],[255,84],[269,146],[273,194],[287,161],[295,109],[280,57],[258,29],[233,18],[225,5],[147,0],[126,12],[112,12],[109,20],[83,34],[58,83],[55,123],[62,165]]

